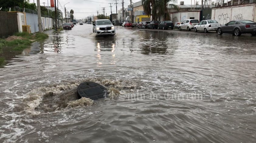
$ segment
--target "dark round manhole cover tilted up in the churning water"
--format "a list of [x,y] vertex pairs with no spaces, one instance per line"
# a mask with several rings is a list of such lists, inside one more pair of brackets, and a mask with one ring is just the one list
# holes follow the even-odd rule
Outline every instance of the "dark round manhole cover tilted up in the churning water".
[[95,82],[81,83],[77,88],[77,93],[80,97],[86,97],[92,100],[107,97],[107,89]]

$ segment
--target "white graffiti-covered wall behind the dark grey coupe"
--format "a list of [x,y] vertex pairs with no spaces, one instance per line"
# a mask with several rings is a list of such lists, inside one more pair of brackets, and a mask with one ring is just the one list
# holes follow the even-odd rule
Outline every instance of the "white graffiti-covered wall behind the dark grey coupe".
[[220,24],[237,19],[256,20],[256,4],[234,5],[221,8],[212,8],[212,19]]

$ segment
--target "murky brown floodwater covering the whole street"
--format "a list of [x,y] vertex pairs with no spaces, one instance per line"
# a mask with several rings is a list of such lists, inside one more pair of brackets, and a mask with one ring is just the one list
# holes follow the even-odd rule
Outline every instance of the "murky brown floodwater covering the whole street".
[[[10,56],[0,142],[256,142],[256,37],[166,31],[76,25]],[[84,81],[109,98],[78,99]]]

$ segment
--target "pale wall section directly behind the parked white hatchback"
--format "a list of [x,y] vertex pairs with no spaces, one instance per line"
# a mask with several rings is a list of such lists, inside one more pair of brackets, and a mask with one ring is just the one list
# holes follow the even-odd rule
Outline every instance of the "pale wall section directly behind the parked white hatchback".
[[195,18],[200,21],[200,12],[201,11],[180,11],[180,12],[171,12],[170,16],[172,22],[179,22],[185,19]]

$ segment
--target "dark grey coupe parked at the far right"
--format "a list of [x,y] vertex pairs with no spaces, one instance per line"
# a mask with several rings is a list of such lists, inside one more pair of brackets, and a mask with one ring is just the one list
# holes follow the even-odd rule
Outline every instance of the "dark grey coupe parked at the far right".
[[217,29],[218,34],[229,33],[240,36],[244,33],[251,33],[256,36],[256,22],[251,20],[234,20],[225,25],[221,25]]

